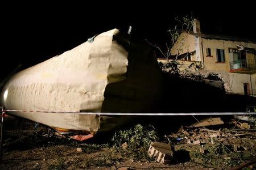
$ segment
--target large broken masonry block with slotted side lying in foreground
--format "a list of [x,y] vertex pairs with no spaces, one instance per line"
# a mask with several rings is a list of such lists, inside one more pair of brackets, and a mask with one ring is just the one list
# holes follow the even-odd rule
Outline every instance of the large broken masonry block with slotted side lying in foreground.
[[152,142],[148,148],[148,155],[157,162],[168,164],[174,155],[174,151],[167,143]]

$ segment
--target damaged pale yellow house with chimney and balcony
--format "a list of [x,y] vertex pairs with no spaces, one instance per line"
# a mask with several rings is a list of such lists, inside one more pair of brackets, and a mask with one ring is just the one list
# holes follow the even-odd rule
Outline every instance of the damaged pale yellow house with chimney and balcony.
[[[200,73],[217,75],[226,92],[256,97],[255,41],[201,33],[200,22],[195,19],[193,31],[181,33],[174,45],[177,48],[172,48],[171,55],[178,56],[183,69],[201,63]],[[208,80],[208,83],[216,82]]]

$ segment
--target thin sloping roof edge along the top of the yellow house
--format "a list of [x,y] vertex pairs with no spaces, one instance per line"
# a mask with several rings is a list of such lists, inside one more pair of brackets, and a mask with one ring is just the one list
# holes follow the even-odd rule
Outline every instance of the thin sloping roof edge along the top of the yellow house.
[[255,39],[236,37],[236,36],[226,36],[226,35],[213,35],[213,34],[204,34],[204,33],[190,33],[194,36],[199,36],[204,39],[213,39],[213,40],[226,40],[226,41],[242,41],[242,42],[252,42],[256,43]]

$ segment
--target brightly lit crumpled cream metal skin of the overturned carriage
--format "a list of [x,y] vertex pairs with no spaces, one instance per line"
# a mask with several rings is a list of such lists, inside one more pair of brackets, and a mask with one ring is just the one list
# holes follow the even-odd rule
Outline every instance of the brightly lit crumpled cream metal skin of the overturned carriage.
[[[123,79],[127,52],[113,41],[118,29],[15,74],[2,92],[6,109],[100,112],[106,85]],[[118,73],[119,76],[116,76]],[[115,74],[114,79],[111,79]],[[110,80],[109,80],[110,79]],[[57,128],[97,131],[100,117],[69,113],[11,112]]]

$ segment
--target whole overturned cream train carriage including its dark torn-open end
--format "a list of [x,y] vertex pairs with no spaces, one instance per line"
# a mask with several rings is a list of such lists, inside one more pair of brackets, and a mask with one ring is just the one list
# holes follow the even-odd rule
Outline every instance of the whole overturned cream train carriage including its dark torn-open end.
[[150,46],[112,29],[15,74],[2,90],[1,105],[49,112],[9,113],[60,133],[79,132],[92,137],[97,131],[125,124],[130,117],[68,112],[154,111],[162,85]]

